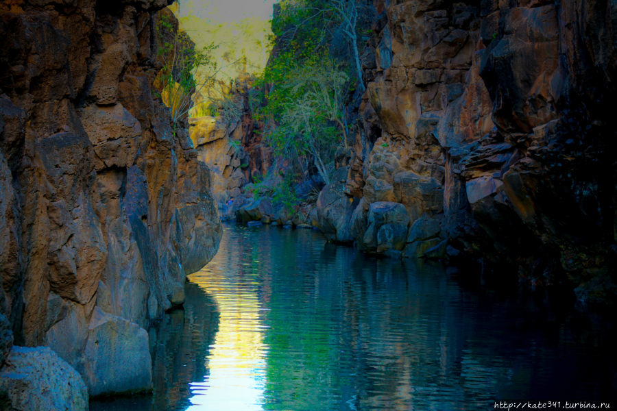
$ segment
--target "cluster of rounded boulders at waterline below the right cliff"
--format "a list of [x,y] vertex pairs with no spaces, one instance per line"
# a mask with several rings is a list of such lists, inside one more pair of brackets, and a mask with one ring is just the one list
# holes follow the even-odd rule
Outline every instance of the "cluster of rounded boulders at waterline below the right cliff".
[[[447,240],[441,232],[443,188],[413,172],[396,175],[398,201],[354,199],[346,195],[349,167],[317,199],[313,225],[328,240],[354,244],[367,253],[394,258],[446,258]],[[422,184],[423,183],[423,184]]]

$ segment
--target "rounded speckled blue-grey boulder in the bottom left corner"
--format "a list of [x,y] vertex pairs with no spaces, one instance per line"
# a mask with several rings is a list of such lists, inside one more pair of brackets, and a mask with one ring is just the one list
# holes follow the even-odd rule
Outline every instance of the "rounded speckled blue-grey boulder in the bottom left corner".
[[13,347],[0,371],[0,391],[12,410],[88,410],[82,377],[49,347]]

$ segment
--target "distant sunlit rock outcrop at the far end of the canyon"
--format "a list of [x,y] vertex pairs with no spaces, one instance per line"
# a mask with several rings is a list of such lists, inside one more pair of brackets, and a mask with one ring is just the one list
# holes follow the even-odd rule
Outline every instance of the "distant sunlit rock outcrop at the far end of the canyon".
[[287,187],[293,190],[300,206],[291,204],[289,193],[277,195],[276,191],[285,185],[286,173],[293,174],[291,162],[275,158],[263,139],[264,126],[254,120],[249,103],[250,79],[241,77],[234,84],[227,97],[231,107],[219,108],[224,115],[189,120],[199,160],[211,171],[213,197],[221,219],[311,227],[308,223],[314,200],[306,199],[316,195],[323,182],[309,176]]

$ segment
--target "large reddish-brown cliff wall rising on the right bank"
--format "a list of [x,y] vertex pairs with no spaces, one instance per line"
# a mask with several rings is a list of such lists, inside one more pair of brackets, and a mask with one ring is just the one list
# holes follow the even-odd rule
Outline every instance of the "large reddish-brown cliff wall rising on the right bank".
[[[361,201],[350,234],[320,226],[367,251],[499,262],[580,301],[614,295],[614,2],[375,5],[346,160],[344,196]],[[370,220],[384,201],[407,210],[404,245]]]

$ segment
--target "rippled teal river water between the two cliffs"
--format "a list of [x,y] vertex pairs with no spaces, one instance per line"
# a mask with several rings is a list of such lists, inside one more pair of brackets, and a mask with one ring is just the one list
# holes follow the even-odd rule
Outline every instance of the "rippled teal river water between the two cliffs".
[[606,328],[463,288],[441,266],[367,258],[311,230],[226,226],[215,259],[189,277],[184,310],[152,331],[154,395],[90,410],[599,404],[617,393]]

